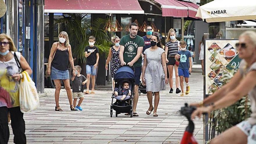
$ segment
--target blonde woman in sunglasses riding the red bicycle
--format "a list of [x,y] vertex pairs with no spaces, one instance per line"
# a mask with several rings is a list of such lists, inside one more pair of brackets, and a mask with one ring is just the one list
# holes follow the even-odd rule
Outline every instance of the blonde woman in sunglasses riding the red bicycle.
[[239,57],[242,59],[240,69],[229,83],[217,90],[213,95],[207,97],[201,103],[191,104],[198,107],[192,113],[191,118],[200,117],[202,113],[209,113],[210,111],[230,106],[245,95],[250,98],[252,114],[247,120],[214,138],[211,144],[256,143],[256,33],[253,31],[242,33],[236,47],[239,51]]

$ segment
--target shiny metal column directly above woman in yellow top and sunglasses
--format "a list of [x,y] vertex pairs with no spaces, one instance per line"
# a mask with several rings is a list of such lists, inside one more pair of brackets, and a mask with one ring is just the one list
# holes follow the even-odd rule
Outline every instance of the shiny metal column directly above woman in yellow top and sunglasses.
[[15,47],[19,47],[18,39],[18,18],[19,18],[19,1],[8,0],[7,3],[8,29],[7,34],[13,39]]

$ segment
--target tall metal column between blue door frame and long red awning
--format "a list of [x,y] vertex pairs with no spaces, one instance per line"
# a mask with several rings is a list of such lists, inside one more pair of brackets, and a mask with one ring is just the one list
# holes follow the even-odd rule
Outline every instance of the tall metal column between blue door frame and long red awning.
[[44,0],[35,3],[36,35],[36,86],[38,93],[44,93]]

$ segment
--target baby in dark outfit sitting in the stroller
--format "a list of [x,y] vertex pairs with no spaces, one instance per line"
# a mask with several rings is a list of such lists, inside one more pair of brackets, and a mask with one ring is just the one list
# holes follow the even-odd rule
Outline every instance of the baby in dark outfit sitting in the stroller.
[[129,82],[124,81],[122,88],[120,89],[115,88],[114,95],[115,95],[115,98],[118,100],[129,99],[131,95],[131,90],[129,90]]

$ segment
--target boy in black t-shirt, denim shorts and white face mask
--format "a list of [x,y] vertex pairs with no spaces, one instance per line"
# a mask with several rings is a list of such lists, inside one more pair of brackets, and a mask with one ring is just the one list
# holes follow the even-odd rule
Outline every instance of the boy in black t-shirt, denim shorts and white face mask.
[[95,75],[97,72],[97,66],[99,62],[99,50],[94,45],[95,44],[95,37],[89,37],[89,46],[85,47],[84,53],[86,57],[86,74],[88,83],[86,84],[87,90],[84,92],[86,94],[89,93],[89,85],[90,85],[90,77],[92,76],[92,91],[91,94],[95,94]]

